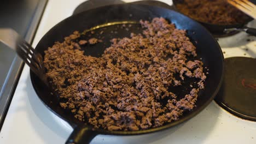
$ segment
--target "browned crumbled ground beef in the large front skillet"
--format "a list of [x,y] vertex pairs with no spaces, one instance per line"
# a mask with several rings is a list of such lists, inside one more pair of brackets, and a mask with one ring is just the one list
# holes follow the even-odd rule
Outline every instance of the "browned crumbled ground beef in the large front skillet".
[[[128,131],[176,121],[195,107],[206,76],[203,63],[191,60],[197,59],[196,47],[185,30],[162,17],[140,22],[143,34],[113,39],[99,58],[76,46],[78,32],[45,51],[46,74],[63,109],[94,128]],[[186,79],[197,84],[178,99],[172,88]]]

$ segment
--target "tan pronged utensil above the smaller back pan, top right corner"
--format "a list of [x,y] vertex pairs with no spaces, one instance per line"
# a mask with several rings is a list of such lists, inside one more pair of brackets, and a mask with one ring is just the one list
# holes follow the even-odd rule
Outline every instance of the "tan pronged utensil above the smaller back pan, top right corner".
[[228,3],[234,5],[237,9],[243,11],[247,15],[256,19],[256,5],[248,0],[227,0]]

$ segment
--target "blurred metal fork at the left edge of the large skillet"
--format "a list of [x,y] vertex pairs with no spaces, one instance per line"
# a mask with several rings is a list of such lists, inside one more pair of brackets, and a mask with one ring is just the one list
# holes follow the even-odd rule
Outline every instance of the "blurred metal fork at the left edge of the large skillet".
[[43,65],[43,57],[34,51],[17,32],[10,28],[0,28],[0,41],[10,49],[16,51],[18,56],[31,68],[44,83],[48,85]]

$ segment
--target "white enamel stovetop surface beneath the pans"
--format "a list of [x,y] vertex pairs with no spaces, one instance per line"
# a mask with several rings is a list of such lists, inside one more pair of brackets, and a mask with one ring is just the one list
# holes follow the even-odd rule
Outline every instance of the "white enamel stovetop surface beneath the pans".
[[[33,46],[56,23],[72,15],[83,1],[49,0]],[[169,0],[163,2],[172,4]],[[256,27],[256,22],[251,25]],[[255,58],[256,41],[246,39],[245,33],[219,39],[225,57],[246,54]],[[0,143],[64,143],[71,131],[71,127],[38,99],[31,85],[29,68],[25,65],[0,132]],[[213,101],[199,115],[177,127],[138,136],[98,135],[91,143],[256,143],[256,122],[232,116]]]

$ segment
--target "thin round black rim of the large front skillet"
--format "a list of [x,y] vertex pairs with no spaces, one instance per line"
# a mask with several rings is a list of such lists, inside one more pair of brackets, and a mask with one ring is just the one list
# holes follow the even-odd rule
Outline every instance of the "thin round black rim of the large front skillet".
[[[165,125],[162,125],[161,127],[156,127],[156,128],[150,128],[150,129],[147,129],[147,130],[138,130],[138,131],[109,131],[109,130],[103,130],[103,129],[95,129],[95,128],[92,128],[91,126],[87,125],[86,127],[90,128],[91,131],[94,131],[95,133],[97,134],[111,134],[111,135],[138,135],[138,134],[148,134],[148,133],[153,133],[155,131],[160,131],[160,130],[165,130],[167,128],[171,128],[173,127],[174,125],[178,125],[178,124],[181,124],[185,121],[188,121],[190,118],[193,118],[194,116],[196,116],[198,113],[200,113],[203,109],[205,109],[206,106],[208,106],[212,100],[216,97],[221,85],[222,85],[222,82],[223,82],[223,78],[224,78],[224,56],[223,56],[223,52],[222,52],[222,49],[220,48],[217,40],[213,37],[213,35],[205,28],[201,25],[201,23],[191,19],[190,17],[182,14],[182,13],[179,13],[178,11],[175,11],[175,10],[172,10],[172,9],[166,9],[166,8],[161,8],[161,7],[157,7],[157,6],[152,6],[152,5],[146,5],[146,4],[131,4],[131,3],[125,3],[125,4],[113,4],[113,5],[107,5],[107,6],[103,6],[103,7],[126,7],[125,5],[131,5],[131,6],[135,6],[136,5],[140,5],[140,6],[143,6],[143,7],[147,7],[147,9],[149,9],[150,7],[151,8],[156,8],[156,9],[165,9],[167,11],[170,11],[170,13],[174,13],[174,14],[178,14],[178,15],[183,15],[185,16],[187,19],[189,19],[190,21],[192,22],[195,22],[197,25],[200,25],[201,27],[201,30],[204,30],[208,33],[208,35],[214,40],[215,44],[216,44],[216,49],[218,49],[220,55],[222,56],[222,65],[220,65],[220,69],[222,69],[221,71],[221,75],[220,75],[220,79],[219,79],[219,82],[218,82],[218,86],[217,88],[215,89],[215,91],[211,94],[211,97],[210,99],[208,99],[203,105],[201,105],[200,107],[198,107],[198,109],[196,109],[196,111],[191,111],[190,114],[188,114],[188,116],[185,116],[185,117],[182,117],[182,119],[178,119],[177,121],[173,121],[173,122],[170,122],[170,123],[167,123]],[[42,42],[42,40],[44,39],[44,37],[50,33],[51,31],[53,31],[56,27],[58,27],[61,23],[65,22],[66,20],[68,19],[71,19],[71,17],[75,17],[75,16],[78,16],[78,15],[84,15],[87,11],[91,11],[91,10],[96,10],[96,9],[99,9],[99,8],[103,8],[103,7],[98,7],[98,8],[95,8],[95,9],[90,9],[90,10],[86,10],[86,11],[83,11],[82,13],[78,13],[78,14],[75,14],[75,15],[71,15],[69,17],[67,17],[66,19],[63,19],[62,21],[60,21],[59,23],[57,23],[55,26],[53,26],[52,28],[49,29],[48,32],[46,32],[44,34],[44,36],[39,40],[35,50],[39,49],[38,48],[38,45],[40,42]],[[37,94],[37,97],[40,99],[40,101],[42,101],[42,103],[51,111],[53,112],[55,115],[57,115],[58,117],[60,117],[63,121],[67,122],[69,125],[71,125],[72,128],[76,128],[76,127],[79,127],[81,124],[83,124],[82,122],[80,123],[76,123],[74,121],[68,121],[67,118],[61,116],[59,113],[57,113],[56,111],[54,111],[53,109],[51,109],[51,107],[46,104],[44,102],[44,100],[42,100],[40,98],[40,92],[38,91],[38,87],[36,86],[36,81],[34,81],[34,79],[36,79],[36,75],[33,73],[33,71],[30,70],[30,78],[31,78],[31,82],[32,82],[32,86]]]

